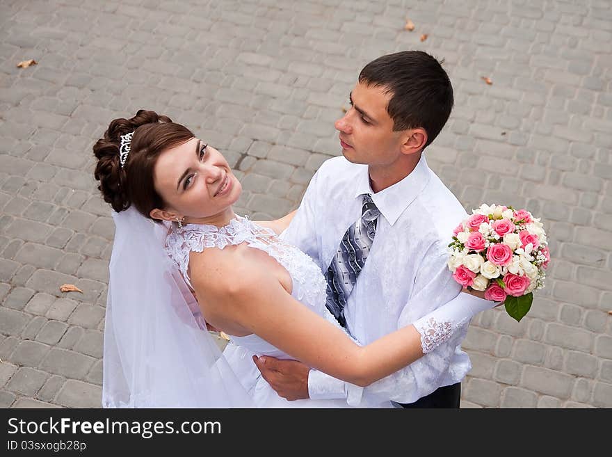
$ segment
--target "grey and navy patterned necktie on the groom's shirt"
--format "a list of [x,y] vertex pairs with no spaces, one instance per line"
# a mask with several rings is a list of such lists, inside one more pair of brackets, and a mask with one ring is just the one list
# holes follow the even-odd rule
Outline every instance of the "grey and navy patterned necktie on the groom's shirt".
[[343,327],[346,327],[344,306],[370,252],[379,215],[380,211],[374,205],[371,196],[364,194],[362,216],[346,230],[336,255],[325,273],[328,282],[326,305]]

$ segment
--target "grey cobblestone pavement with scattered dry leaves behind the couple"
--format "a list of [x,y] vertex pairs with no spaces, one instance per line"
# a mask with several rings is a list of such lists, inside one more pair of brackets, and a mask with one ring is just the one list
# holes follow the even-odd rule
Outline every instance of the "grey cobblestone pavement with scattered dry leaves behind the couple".
[[280,216],[339,154],[360,68],[403,49],[444,57],[456,90],[430,166],[466,209],[526,206],[551,238],[529,315],[472,321],[462,406],[612,407],[610,0],[4,0],[0,24],[0,407],[100,404],[108,121],[185,123],[242,179],[237,212]]

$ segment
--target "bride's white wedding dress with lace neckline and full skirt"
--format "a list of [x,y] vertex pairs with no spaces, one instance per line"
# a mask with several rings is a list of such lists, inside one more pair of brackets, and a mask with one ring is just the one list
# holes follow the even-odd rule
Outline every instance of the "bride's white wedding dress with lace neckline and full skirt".
[[[175,228],[166,238],[166,252],[176,262],[191,287],[187,273],[189,252],[202,252],[205,248],[223,249],[225,246],[241,243],[247,243],[251,248],[263,250],[273,257],[291,275],[293,282],[291,296],[341,328],[325,307],[326,283],[319,267],[304,252],[282,241],[272,230],[261,227],[248,218],[236,216],[224,227],[186,224],[180,229]],[[191,309],[198,322],[204,326],[200,310],[196,306],[192,306]],[[202,330],[205,330],[205,327]],[[316,338],[316,334],[312,337]],[[252,361],[252,355],[292,358],[255,334],[230,338],[223,355],[258,408],[348,408],[346,401],[339,399],[297,401],[283,399],[261,377]],[[391,407],[391,403],[384,403],[381,407],[383,406]]]

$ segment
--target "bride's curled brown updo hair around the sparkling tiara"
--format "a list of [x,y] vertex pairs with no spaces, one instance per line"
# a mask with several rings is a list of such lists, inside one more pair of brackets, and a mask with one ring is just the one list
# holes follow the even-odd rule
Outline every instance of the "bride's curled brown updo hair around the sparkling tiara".
[[[122,168],[119,157],[120,136],[130,132],[134,132],[134,135],[127,161]],[[134,205],[147,218],[151,218],[149,213],[152,209],[166,208],[153,182],[155,163],[163,151],[193,136],[183,125],[155,111],[140,109],[134,118],[113,120],[104,132],[104,137],[93,146],[93,153],[98,159],[94,176],[100,182],[98,189],[104,201],[110,203],[117,212]]]

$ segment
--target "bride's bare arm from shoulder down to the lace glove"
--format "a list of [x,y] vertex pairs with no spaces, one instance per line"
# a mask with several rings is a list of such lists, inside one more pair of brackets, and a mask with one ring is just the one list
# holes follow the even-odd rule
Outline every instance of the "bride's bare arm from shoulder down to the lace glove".
[[205,265],[196,258],[191,278],[198,296],[205,297],[200,305],[207,319],[232,321],[335,378],[367,386],[423,355],[414,326],[360,347],[295,300],[265,265],[252,260],[236,264],[231,255],[214,255]]

